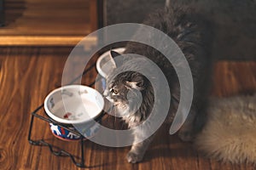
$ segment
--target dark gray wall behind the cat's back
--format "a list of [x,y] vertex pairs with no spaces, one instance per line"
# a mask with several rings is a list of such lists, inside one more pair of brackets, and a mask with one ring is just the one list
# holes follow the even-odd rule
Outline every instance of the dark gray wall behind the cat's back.
[[[252,0],[171,0],[170,5],[189,6],[211,20],[215,36],[212,55],[217,59],[256,58],[256,2]],[[142,23],[148,14],[163,8],[165,0],[104,1],[103,26]]]

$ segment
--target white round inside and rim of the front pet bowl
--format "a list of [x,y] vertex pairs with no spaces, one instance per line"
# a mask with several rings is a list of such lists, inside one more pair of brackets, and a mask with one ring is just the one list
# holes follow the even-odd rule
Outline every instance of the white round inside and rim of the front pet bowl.
[[57,88],[44,100],[46,113],[56,122],[90,122],[102,112],[104,99],[94,88],[70,85]]

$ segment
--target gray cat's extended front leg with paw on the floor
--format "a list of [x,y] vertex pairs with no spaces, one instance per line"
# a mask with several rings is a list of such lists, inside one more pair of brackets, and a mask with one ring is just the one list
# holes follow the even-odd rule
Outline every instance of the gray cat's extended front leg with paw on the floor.
[[[138,133],[135,133],[135,142],[137,139],[142,138],[142,136]],[[131,150],[128,152],[126,158],[130,163],[137,163],[139,161],[143,161],[143,156],[148,149],[148,145],[154,139],[154,134],[151,135],[148,139],[144,139],[142,142],[132,144]]]

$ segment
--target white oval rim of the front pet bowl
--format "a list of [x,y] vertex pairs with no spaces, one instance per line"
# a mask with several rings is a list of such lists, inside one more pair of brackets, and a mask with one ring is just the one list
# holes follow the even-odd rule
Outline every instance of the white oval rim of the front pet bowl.
[[67,85],[67,86],[62,86],[61,88],[55,88],[54,90],[52,90],[47,96],[46,98],[44,99],[44,111],[46,112],[46,114],[51,118],[53,119],[55,122],[59,122],[59,123],[63,123],[63,124],[79,124],[79,123],[84,123],[84,122],[91,122],[92,120],[86,120],[86,121],[83,121],[83,120],[68,120],[68,119],[63,119],[59,116],[55,116],[55,114],[53,114],[51,111],[49,111],[49,108],[47,106],[47,102],[49,101],[49,98],[55,94],[56,92],[59,92],[61,91],[62,89],[68,89],[68,88],[89,88],[90,90],[94,91],[97,96],[100,97],[100,99],[102,100],[102,104],[101,107],[100,107],[100,111],[95,115],[93,116],[92,118],[95,119],[97,116],[100,116],[102,114],[102,111],[103,111],[103,108],[104,108],[104,105],[105,105],[105,102],[104,102],[104,99],[103,99],[103,96],[102,94],[100,94],[96,89],[94,88],[90,88],[89,86],[84,86],[84,85]]

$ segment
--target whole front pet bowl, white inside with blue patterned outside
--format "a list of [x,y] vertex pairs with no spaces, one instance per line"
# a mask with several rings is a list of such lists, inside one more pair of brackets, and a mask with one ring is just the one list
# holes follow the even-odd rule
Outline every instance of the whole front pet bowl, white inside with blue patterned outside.
[[[75,129],[85,138],[92,137],[99,129],[95,119],[101,115],[104,107],[102,94],[93,88],[82,85],[69,85],[57,88],[44,100],[46,114],[55,122]],[[49,123],[55,137],[64,140],[76,140],[80,136],[69,130]]]

